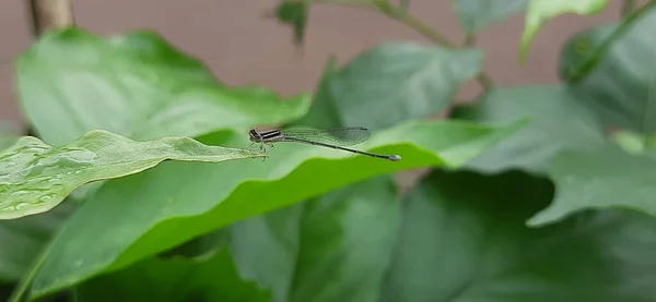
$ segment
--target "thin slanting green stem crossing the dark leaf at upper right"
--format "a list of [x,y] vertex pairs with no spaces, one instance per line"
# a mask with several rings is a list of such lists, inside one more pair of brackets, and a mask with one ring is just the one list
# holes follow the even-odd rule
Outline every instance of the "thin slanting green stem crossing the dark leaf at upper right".
[[608,52],[612,43],[620,38],[625,32],[628,32],[633,24],[637,20],[640,20],[644,14],[646,14],[651,9],[656,7],[656,0],[649,1],[647,4],[643,5],[640,9],[631,11],[625,17],[624,21],[618,26],[614,32],[601,43],[601,45],[597,48],[597,50],[589,57],[589,59],[581,64],[571,75],[570,82],[573,84],[582,81],[601,60],[601,58]]

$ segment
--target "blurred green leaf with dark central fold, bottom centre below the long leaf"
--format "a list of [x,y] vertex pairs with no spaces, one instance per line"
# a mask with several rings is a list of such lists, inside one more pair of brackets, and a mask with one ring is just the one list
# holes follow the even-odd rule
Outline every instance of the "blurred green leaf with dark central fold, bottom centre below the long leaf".
[[394,181],[382,176],[237,222],[238,267],[271,288],[274,301],[377,301],[398,200]]

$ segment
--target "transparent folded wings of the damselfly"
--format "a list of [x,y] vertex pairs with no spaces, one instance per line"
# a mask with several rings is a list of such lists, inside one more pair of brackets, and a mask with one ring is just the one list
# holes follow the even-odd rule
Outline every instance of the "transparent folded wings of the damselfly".
[[313,128],[292,128],[281,130],[281,132],[282,136],[285,138],[297,138],[342,147],[360,144],[368,140],[368,137],[372,134],[368,131],[368,129],[362,126],[345,126],[340,129],[328,130]]

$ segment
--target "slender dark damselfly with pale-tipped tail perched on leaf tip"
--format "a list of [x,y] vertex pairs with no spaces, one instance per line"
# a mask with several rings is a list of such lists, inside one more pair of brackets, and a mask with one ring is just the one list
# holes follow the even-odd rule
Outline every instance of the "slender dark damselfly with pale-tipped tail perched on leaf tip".
[[259,149],[265,152],[265,145],[268,145],[271,148],[273,148],[273,143],[294,142],[329,147],[333,149],[340,149],[373,156],[377,158],[385,158],[393,161],[401,159],[401,156],[396,154],[385,155],[345,148],[345,146],[360,144],[371,136],[371,132],[368,131],[368,129],[362,126],[347,126],[332,130],[297,128],[289,130],[270,130],[265,132],[259,132],[255,129],[251,129],[248,132],[248,135],[250,136],[250,142],[253,142],[250,145],[259,143]]

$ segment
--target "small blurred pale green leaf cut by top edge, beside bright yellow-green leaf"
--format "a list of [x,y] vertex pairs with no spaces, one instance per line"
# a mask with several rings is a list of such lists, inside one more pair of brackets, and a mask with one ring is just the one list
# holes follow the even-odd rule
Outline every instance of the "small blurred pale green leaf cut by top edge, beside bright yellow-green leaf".
[[460,24],[470,34],[524,11],[527,3],[528,0],[452,0]]

